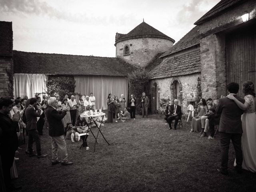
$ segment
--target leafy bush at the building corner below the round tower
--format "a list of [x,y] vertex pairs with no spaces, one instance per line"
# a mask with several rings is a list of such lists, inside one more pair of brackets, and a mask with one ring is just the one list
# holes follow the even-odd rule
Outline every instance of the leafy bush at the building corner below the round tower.
[[[132,73],[128,74],[128,82],[129,82],[129,98],[131,94],[134,94],[136,97],[136,113],[142,114],[142,104],[141,104],[141,96],[142,92],[146,93],[149,100],[151,99],[150,95],[150,73],[145,69],[139,69],[133,71]],[[149,111],[151,111],[151,102],[149,102]]]

